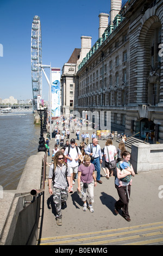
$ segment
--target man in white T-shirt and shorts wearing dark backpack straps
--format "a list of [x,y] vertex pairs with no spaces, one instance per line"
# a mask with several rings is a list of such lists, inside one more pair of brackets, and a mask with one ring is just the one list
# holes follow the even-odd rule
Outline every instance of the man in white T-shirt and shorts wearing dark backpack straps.
[[82,155],[78,146],[76,146],[75,139],[71,139],[70,146],[65,149],[65,157],[67,159],[67,166],[71,173],[71,193],[73,192],[72,182],[74,176],[78,173],[79,157]]

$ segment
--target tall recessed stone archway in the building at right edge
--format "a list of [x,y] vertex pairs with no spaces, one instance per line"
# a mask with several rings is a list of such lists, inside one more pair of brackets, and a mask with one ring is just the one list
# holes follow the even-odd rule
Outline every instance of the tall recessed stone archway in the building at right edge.
[[156,51],[159,48],[156,39],[158,39],[160,28],[161,22],[156,15],[149,17],[142,25],[137,47],[137,77],[139,78],[137,79],[137,103],[149,101],[148,77],[151,71],[158,69],[156,59],[158,52]]

